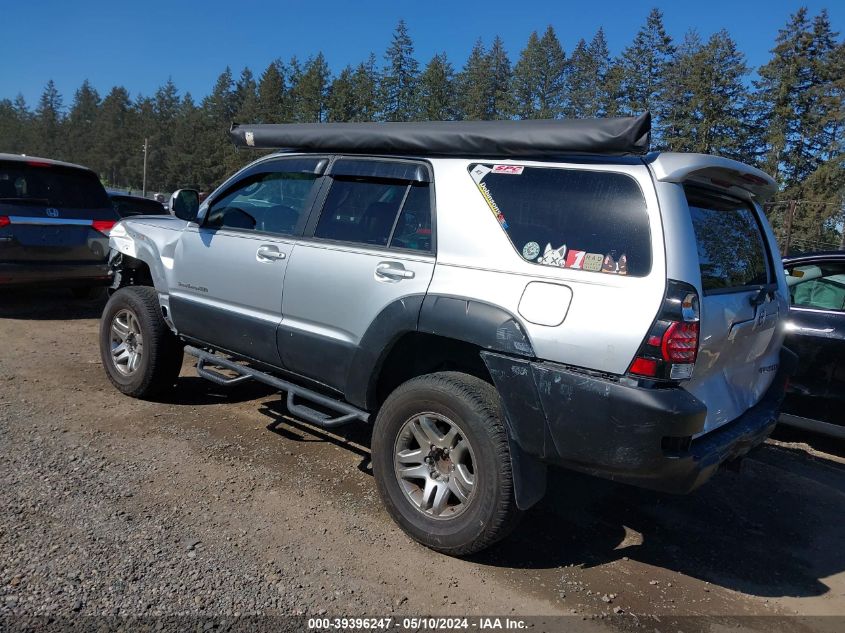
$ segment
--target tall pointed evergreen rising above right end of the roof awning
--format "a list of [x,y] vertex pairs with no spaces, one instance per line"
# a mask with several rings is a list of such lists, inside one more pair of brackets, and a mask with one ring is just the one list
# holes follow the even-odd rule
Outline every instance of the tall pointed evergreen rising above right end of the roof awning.
[[[674,52],[672,38],[663,26],[663,14],[652,9],[633,43],[622,53],[623,112],[636,115],[650,110],[659,127],[662,82]],[[659,144],[659,134],[655,136]]]

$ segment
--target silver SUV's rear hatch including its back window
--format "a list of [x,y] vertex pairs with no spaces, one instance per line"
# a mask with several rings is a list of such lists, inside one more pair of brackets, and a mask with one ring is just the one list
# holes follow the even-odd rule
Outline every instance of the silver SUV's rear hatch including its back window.
[[769,388],[786,304],[759,207],[714,189],[687,184],[684,191],[703,292],[698,359],[685,388],[707,405],[706,432],[742,415]]

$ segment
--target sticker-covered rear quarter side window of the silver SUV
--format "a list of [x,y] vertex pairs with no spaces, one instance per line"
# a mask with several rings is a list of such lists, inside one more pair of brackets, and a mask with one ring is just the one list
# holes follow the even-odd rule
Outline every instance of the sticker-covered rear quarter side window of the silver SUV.
[[469,171],[525,260],[634,277],[651,270],[648,213],[633,178],[493,163]]

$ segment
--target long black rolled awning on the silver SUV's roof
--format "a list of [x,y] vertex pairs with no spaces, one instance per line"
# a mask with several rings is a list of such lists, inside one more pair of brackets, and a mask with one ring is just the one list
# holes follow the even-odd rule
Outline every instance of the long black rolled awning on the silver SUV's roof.
[[606,119],[232,124],[238,147],[353,154],[537,157],[646,154],[651,115]]

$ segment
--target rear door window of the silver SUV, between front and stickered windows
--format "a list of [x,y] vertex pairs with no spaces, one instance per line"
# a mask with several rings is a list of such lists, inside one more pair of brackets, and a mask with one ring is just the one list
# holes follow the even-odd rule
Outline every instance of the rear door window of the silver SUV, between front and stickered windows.
[[425,183],[336,177],[314,237],[431,250],[429,196]]

